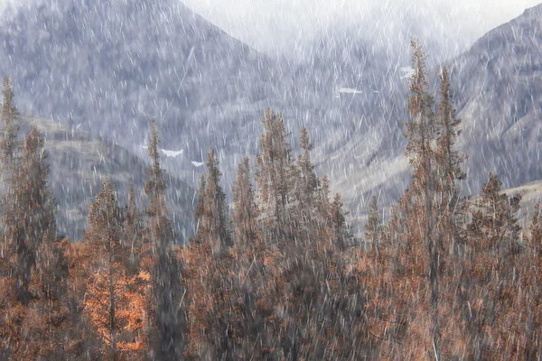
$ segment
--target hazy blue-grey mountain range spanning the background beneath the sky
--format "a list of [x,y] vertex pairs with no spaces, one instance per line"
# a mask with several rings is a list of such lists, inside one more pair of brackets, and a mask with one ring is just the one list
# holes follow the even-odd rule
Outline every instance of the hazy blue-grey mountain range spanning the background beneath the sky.
[[[294,61],[254,51],[176,0],[33,0],[0,18],[0,70],[24,114],[100,134],[142,159],[155,116],[164,166],[192,185],[212,145],[229,191],[236,163],[257,150],[267,106],[284,114],[292,143],[307,126],[317,171],[354,218],[370,193],[387,206],[409,179],[407,38],[419,23],[396,37],[391,25],[385,34],[330,29]],[[508,187],[539,178],[541,18],[529,9],[444,62],[464,121],[467,192],[490,171]],[[444,45],[422,45],[436,80]]]

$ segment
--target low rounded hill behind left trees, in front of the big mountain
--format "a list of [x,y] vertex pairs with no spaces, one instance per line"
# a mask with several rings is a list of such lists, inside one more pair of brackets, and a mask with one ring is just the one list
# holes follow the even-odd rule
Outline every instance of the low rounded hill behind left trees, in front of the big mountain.
[[[51,165],[49,184],[57,203],[57,224],[62,234],[80,239],[88,227],[88,208],[109,178],[117,186],[118,201],[126,206],[130,184],[134,184],[136,204],[147,206],[145,181],[149,167],[133,153],[87,132],[41,118],[22,117],[21,135],[36,125],[45,137],[47,162]],[[166,192],[173,214],[178,241],[192,235],[194,190],[186,182],[168,176]]]

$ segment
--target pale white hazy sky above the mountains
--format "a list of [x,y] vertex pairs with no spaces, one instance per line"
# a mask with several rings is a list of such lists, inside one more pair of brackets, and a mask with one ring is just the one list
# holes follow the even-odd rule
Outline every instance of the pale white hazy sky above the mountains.
[[[184,4],[261,51],[284,51],[341,26],[426,32],[465,50],[542,0],[185,0]],[[405,19],[410,19],[406,22]],[[415,23],[416,30],[409,29]],[[421,30],[423,29],[423,30]],[[336,29],[334,29],[336,31]],[[423,34],[416,35],[424,38]],[[463,48],[463,49],[462,49]]]

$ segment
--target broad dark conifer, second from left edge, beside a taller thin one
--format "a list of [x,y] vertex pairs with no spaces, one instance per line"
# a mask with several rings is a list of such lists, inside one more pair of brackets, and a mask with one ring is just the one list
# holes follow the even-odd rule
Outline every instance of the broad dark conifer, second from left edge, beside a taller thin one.
[[67,320],[63,301],[67,264],[56,239],[54,201],[47,184],[49,165],[42,148],[42,134],[34,126],[22,154],[12,163],[3,208],[8,245],[3,260],[9,270],[5,276],[14,276],[11,291],[5,292],[6,301],[20,310],[10,338],[18,339],[12,346],[28,345],[11,348],[17,357],[61,355],[62,328]]

